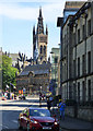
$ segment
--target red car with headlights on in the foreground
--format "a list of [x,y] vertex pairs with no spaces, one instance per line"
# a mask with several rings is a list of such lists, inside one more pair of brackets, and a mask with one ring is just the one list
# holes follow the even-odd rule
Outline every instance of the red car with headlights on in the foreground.
[[59,131],[59,121],[56,117],[50,117],[48,109],[28,107],[19,116],[19,129]]

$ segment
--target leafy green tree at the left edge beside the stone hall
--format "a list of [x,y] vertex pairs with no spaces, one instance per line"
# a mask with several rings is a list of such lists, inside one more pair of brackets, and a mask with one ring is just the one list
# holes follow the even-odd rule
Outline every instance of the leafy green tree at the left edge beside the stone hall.
[[5,90],[7,85],[12,83],[15,86],[15,73],[16,68],[12,67],[12,59],[5,55],[2,55],[2,90]]

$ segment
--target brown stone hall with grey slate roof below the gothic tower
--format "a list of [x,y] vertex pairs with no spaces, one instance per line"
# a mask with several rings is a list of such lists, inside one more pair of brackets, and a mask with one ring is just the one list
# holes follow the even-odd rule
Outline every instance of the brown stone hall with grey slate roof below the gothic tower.
[[[26,90],[26,93],[47,92],[50,82],[50,63],[27,66],[16,78],[18,90]],[[42,88],[40,88],[42,87]]]

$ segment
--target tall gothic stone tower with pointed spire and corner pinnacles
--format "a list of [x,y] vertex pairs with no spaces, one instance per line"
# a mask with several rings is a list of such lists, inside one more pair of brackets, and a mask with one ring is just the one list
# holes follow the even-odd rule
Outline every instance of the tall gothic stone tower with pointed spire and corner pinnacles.
[[33,27],[33,59],[37,60],[39,64],[47,62],[47,41],[48,28],[46,26],[46,32],[44,33],[42,8],[39,8],[36,33],[35,26]]

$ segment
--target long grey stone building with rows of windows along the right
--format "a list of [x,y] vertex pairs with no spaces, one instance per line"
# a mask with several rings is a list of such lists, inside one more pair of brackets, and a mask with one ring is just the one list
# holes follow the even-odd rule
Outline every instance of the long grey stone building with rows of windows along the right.
[[[66,22],[60,20],[61,97],[86,106],[93,102],[93,2],[85,2]],[[93,120],[91,108],[82,109],[78,108],[78,117]]]

